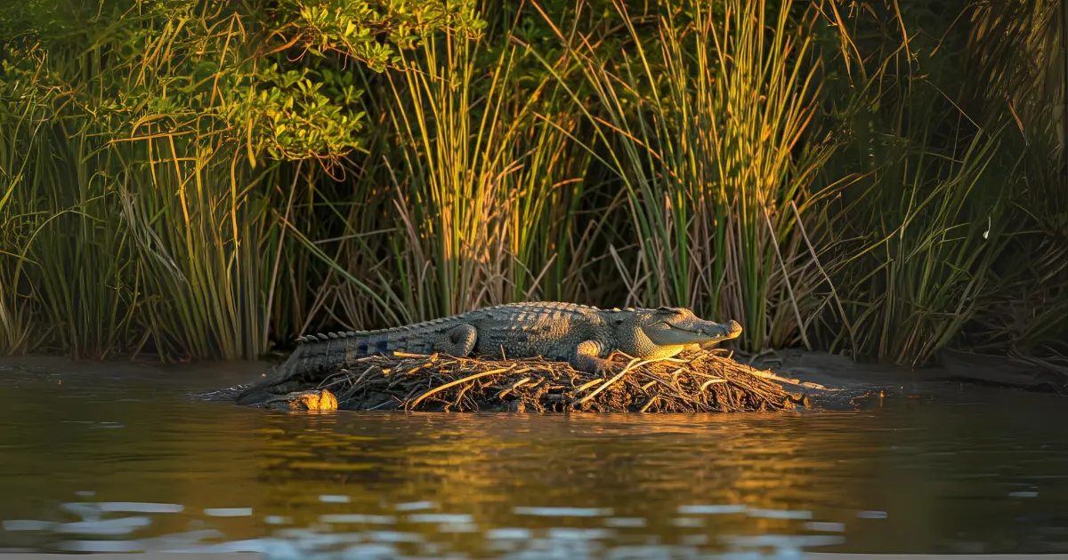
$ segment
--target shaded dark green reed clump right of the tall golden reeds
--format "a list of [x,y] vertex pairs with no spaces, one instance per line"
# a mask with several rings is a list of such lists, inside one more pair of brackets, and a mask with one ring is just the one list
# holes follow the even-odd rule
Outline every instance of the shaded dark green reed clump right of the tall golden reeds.
[[849,19],[824,14],[841,54],[830,99],[847,102],[829,111],[837,111],[842,147],[821,176],[851,177],[834,210],[842,243],[832,272],[853,337],[839,332],[827,346],[924,364],[963,341],[998,287],[992,267],[1010,241],[1015,199],[998,158],[1005,127],[961,108],[965,68],[938,54],[960,31],[909,34],[893,6]]

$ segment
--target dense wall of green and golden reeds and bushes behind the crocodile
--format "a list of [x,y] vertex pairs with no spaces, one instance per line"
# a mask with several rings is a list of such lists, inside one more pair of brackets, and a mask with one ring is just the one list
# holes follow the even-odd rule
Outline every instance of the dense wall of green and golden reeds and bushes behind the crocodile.
[[535,299],[899,364],[1068,341],[1059,1],[0,7],[0,352]]

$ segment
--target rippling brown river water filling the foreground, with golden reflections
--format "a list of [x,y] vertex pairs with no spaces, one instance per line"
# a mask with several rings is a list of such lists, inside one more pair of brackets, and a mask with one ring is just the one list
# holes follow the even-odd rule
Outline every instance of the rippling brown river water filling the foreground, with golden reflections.
[[1066,401],[738,416],[285,414],[0,364],[0,549],[293,558],[1068,551]]

